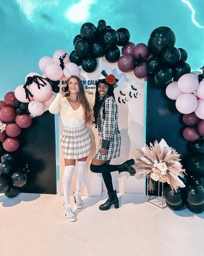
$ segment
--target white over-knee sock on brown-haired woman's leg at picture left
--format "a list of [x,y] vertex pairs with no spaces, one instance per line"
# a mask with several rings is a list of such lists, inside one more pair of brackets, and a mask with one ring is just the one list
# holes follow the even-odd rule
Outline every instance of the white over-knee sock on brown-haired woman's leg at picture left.
[[64,168],[63,175],[63,190],[64,190],[64,203],[69,204],[69,191],[71,187],[71,179],[74,171],[74,165],[67,165]]

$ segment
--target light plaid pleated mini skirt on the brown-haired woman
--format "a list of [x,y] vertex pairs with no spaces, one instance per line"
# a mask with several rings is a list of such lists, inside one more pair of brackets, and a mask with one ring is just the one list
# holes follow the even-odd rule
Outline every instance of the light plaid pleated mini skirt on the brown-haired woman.
[[84,158],[93,150],[91,134],[85,124],[74,128],[64,126],[60,142],[65,159]]

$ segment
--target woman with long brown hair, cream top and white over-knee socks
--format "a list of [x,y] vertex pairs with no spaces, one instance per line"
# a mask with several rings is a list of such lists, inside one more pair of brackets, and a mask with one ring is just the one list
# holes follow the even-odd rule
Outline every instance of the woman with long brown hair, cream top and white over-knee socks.
[[71,179],[75,161],[78,160],[77,186],[73,192],[77,208],[83,207],[81,187],[84,180],[87,156],[92,152],[91,135],[86,124],[91,117],[91,104],[87,101],[84,87],[78,76],[70,76],[67,85],[60,88],[55,100],[49,106],[49,112],[60,112],[64,130],[61,146],[65,160],[63,175],[64,208],[68,221],[75,221],[76,217],[69,202]]

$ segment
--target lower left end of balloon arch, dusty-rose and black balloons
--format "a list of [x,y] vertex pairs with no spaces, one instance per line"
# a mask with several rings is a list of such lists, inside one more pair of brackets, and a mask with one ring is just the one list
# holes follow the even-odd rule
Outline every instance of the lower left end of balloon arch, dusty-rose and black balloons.
[[0,193],[9,198],[19,194],[19,187],[27,182],[28,165],[19,166],[16,151],[20,143],[21,129],[31,125],[28,104],[8,92],[0,101]]

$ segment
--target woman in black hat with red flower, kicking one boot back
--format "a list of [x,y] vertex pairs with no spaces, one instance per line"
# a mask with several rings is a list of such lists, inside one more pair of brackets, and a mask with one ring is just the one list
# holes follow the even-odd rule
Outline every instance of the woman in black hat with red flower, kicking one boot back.
[[116,190],[113,189],[111,172],[128,172],[134,176],[136,171],[132,167],[135,163],[133,159],[119,165],[110,164],[111,159],[120,156],[121,137],[118,129],[118,108],[113,93],[117,87],[118,79],[113,74],[107,75],[105,70],[101,74],[103,76],[96,81],[94,117],[92,119],[98,127],[100,142],[90,169],[93,173],[101,173],[103,176],[109,198],[99,206],[99,209],[108,210],[113,204],[115,208],[119,208]]

